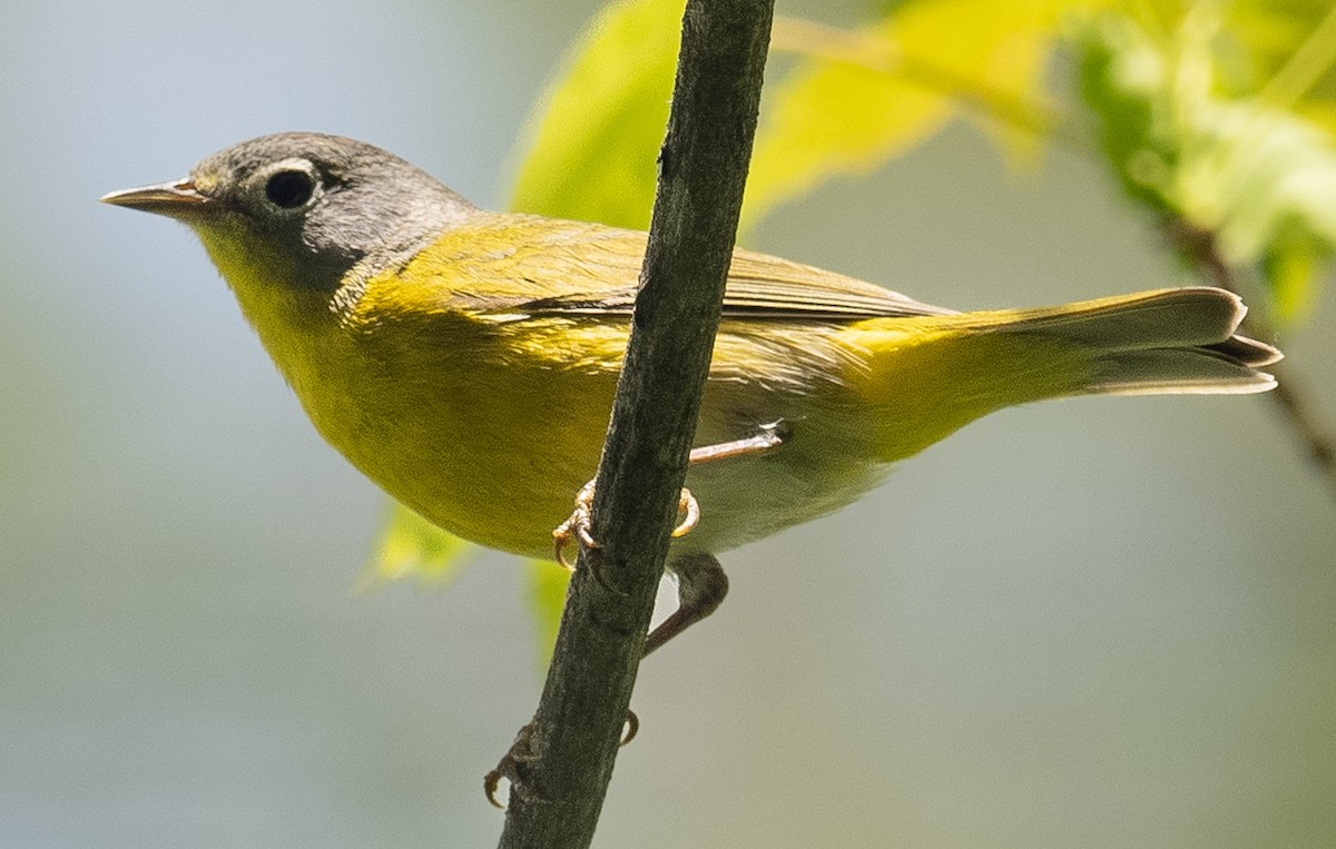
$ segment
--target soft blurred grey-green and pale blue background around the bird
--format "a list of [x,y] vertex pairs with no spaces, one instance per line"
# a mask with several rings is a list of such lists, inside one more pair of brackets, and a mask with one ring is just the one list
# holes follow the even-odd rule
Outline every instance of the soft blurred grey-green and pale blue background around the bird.
[[[481,778],[541,682],[522,570],[354,593],[382,497],[191,235],[95,199],[319,129],[504,206],[596,8],[9,0],[0,845],[494,842]],[[751,246],[957,307],[1184,282],[1092,162],[1009,175],[963,127]],[[1333,328],[1328,294],[1280,340],[1327,420]],[[1336,845],[1333,553],[1265,398],[994,415],[725,558],[641,671],[597,845]]]

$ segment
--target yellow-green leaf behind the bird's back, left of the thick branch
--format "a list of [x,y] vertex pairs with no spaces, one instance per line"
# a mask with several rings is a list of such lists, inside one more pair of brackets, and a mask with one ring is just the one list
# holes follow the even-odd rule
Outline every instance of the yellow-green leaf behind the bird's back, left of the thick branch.
[[644,230],[685,0],[599,13],[540,101],[512,210]]

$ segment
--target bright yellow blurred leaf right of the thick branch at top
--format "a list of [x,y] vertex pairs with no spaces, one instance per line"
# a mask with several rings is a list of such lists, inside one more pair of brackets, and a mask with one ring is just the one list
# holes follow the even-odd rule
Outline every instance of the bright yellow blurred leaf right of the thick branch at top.
[[1106,0],[916,0],[856,31],[776,21],[775,45],[806,59],[770,87],[747,186],[748,220],[839,175],[904,154],[961,105],[1013,155],[1051,121],[1043,72],[1073,9]]

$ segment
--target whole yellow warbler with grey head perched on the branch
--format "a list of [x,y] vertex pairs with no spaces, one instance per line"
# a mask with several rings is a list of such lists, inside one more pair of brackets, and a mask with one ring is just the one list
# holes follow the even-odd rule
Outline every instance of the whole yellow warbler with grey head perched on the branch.
[[[645,234],[484,211],[351,139],[281,133],[103,198],[188,224],[315,429],[465,539],[552,557],[593,474]],[[1224,290],[955,312],[737,250],[687,486],[679,609],[727,591],[716,554],[836,510],[963,425],[1071,395],[1272,388],[1280,352]]]

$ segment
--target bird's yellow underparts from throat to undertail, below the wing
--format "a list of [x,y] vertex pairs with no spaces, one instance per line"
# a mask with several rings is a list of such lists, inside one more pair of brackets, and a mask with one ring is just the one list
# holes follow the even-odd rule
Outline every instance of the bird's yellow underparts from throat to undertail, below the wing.
[[[465,539],[550,557],[552,529],[597,471],[624,316],[480,315],[440,274],[373,279],[342,314],[236,288],[315,427],[363,474]],[[725,320],[695,445],[776,420],[791,435],[689,470],[703,519],[677,545],[723,551],[823,515],[966,422],[1061,394],[1042,379],[1067,371],[1053,370],[1057,351],[937,322]]]

